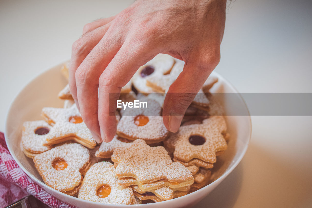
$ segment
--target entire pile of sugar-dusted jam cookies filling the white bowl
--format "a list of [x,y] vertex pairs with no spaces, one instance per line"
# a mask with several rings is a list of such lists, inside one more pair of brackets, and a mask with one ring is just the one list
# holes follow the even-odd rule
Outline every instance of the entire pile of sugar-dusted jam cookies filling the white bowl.
[[[166,129],[163,100],[183,66],[158,54],[138,69],[119,99],[139,99],[149,107],[117,109],[117,132],[109,143],[95,142],[67,85],[59,93],[63,108],[45,107],[43,120],[24,122],[22,150],[48,186],[89,201],[159,202],[206,186],[229,135],[222,106],[209,93],[216,77],[209,77],[196,95],[179,131]],[[68,79],[68,63],[62,73]]]

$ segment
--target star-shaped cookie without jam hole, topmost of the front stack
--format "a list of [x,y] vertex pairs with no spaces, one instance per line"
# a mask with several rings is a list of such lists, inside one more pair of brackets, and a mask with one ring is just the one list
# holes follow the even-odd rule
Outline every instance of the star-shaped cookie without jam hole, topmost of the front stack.
[[193,184],[191,171],[173,162],[163,146],[150,147],[141,139],[129,147],[116,148],[111,159],[117,164],[116,176],[119,179],[133,178],[138,184],[165,181],[170,188]]

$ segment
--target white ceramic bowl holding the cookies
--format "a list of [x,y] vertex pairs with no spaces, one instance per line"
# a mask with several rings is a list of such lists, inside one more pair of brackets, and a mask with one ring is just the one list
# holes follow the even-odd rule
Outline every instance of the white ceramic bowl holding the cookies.
[[[235,93],[239,100],[242,112],[248,116],[226,116],[228,124],[228,132],[230,133],[230,141],[228,149],[222,156],[217,158],[217,163],[213,168],[211,183],[202,189],[195,191],[186,196],[176,199],[143,205],[108,205],[85,201],[82,199],[68,196],[64,193],[56,191],[47,186],[41,179],[39,173],[34,167],[33,161],[27,158],[20,149],[20,141],[22,134],[22,123],[24,121],[40,120],[41,109],[43,107],[62,107],[63,101],[58,99],[58,92],[66,85],[65,78],[61,75],[61,66],[57,65],[36,77],[30,82],[12,102],[10,110],[7,114],[5,137],[7,147],[17,162],[17,164],[32,178],[41,188],[46,190],[57,199],[67,202],[77,207],[189,207],[195,205],[207,194],[209,194],[224,178],[237,166],[244,156],[251,136],[251,120],[245,102]],[[217,73],[213,76],[218,77],[219,81],[212,88],[212,92],[237,92],[236,89]],[[225,111],[230,110],[231,103],[223,98],[222,103]]]

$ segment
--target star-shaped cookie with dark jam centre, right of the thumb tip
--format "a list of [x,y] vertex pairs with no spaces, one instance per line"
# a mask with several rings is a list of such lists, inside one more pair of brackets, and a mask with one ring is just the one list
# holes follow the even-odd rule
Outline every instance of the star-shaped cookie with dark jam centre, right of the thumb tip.
[[227,149],[226,131],[223,116],[210,116],[202,124],[181,126],[177,134],[164,141],[164,145],[174,149],[174,161],[181,161],[185,166],[212,168],[216,156]]

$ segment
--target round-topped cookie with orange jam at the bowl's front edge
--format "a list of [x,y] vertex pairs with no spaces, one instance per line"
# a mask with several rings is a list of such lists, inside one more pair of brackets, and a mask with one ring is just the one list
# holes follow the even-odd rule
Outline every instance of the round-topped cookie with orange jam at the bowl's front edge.
[[95,163],[87,171],[78,198],[105,204],[135,204],[136,199],[129,187],[119,186],[115,167],[110,162]]

